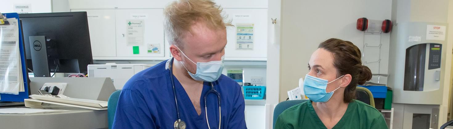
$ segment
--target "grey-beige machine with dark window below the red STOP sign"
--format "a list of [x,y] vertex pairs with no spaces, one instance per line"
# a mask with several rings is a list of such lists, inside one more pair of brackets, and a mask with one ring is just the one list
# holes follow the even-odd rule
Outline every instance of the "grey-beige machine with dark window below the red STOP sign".
[[439,128],[447,27],[424,22],[393,27],[388,86],[394,92],[394,129]]

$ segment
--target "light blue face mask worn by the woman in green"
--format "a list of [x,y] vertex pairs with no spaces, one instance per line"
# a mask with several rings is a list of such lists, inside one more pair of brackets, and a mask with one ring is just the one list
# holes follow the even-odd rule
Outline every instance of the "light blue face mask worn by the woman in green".
[[[344,75],[343,75],[344,76]],[[339,77],[342,78],[343,76]],[[337,79],[339,79],[337,78]],[[333,80],[336,81],[337,79]],[[332,82],[333,82],[332,81]],[[332,83],[330,82],[330,83]],[[305,75],[304,79],[304,94],[314,102],[327,102],[333,95],[337,89],[333,90],[332,92],[326,92],[328,80],[316,78],[310,75]]]

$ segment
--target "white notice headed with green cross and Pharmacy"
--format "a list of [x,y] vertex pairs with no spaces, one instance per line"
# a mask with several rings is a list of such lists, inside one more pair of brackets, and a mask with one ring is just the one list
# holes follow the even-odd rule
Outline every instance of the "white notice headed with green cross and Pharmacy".
[[143,45],[144,22],[143,19],[127,20],[126,43],[127,46]]

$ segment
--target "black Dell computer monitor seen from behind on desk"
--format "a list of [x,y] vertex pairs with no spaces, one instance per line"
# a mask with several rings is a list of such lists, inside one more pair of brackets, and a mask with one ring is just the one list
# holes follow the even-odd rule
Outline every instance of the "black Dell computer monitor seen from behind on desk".
[[93,64],[87,12],[19,14],[19,18],[28,67],[35,77],[83,73]]

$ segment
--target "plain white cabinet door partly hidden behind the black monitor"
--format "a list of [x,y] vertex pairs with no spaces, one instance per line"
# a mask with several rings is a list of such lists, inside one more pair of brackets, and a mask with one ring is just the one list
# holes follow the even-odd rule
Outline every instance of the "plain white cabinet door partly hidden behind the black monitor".
[[93,57],[115,57],[115,10],[114,9],[72,9],[71,12],[86,11],[90,31]]

